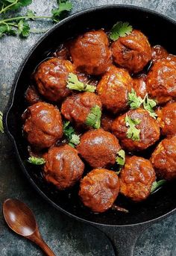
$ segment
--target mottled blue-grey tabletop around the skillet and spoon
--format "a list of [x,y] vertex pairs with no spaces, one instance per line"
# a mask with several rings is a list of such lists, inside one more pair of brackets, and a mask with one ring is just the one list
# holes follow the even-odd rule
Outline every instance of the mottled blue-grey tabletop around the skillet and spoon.
[[[133,4],[157,10],[176,19],[175,0],[71,0],[72,13],[101,4]],[[37,14],[48,14],[56,1],[34,0],[31,9]],[[25,8],[24,8],[25,9]],[[23,11],[25,11],[23,9]],[[51,27],[51,22],[33,22],[33,27]],[[41,34],[31,34],[27,40],[4,37],[0,40],[0,110],[4,110],[11,84],[19,64]],[[68,216],[48,205],[22,175],[13,148],[5,134],[0,134],[0,206],[4,199],[17,198],[34,211],[43,238],[56,255],[113,256],[113,248],[107,237],[96,228],[69,219]],[[176,256],[176,214],[151,225],[136,242],[134,256]],[[43,255],[28,240],[13,234],[4,224],[0,213],[0,255]]]

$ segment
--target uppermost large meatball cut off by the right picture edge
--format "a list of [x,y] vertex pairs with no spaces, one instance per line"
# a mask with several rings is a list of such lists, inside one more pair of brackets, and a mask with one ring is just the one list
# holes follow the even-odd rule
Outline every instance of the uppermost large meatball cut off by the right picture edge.
[[147,75],[147,91],[159,104],[176,97],[176,66],[170,60],[158,60]]

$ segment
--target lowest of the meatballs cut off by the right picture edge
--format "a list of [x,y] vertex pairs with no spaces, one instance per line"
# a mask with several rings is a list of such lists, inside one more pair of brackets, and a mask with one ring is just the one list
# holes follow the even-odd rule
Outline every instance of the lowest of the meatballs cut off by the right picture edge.
[[151,155],[157,177],[166,180],[176,178],[176,137],[162,140]]

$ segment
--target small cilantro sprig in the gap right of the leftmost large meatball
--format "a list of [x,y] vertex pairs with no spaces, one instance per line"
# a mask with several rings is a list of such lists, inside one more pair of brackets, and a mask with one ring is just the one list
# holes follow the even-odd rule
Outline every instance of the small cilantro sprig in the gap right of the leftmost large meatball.
[[75,134],[75,129],[70,125],[69,121],[63,123],[63,134],[69,141],[69,146],[75,147],[80,143],[80,137]]

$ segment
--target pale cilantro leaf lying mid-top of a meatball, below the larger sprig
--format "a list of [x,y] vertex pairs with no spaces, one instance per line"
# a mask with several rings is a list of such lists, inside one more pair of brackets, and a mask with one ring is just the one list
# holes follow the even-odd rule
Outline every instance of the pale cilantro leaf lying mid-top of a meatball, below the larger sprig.
[[139,125],[140,122],[141,122],[140,119],[132,119],[128,115],[125,116],[125,123],[128,127],[128,131],[127,131],[128,139],[132,139],[136,141],[140,140],[140,137],[139,137],[140,130],[135,127],[135,125]]

